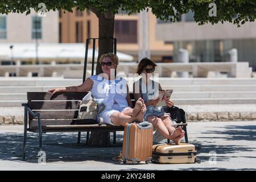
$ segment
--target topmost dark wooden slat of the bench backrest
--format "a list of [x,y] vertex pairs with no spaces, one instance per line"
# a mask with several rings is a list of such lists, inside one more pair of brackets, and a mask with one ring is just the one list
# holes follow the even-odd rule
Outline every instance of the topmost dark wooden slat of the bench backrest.
[[59,92],[52,94],[50,92],[27,92],[28,101],[39,100],[82,100],[87,92]]

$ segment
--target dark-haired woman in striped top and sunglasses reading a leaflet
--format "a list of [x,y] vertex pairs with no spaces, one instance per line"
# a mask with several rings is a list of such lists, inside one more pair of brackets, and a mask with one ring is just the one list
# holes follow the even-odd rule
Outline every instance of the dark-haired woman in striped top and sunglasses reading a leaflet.
[[[134,98],[135,100],[139,98],[144,100],[147,108],[144,115],[145,120],[152,123],[156,132],[164,138],[171,139],[176,144],[179,144],[181,138],[184,137],[184,131],[181,127],[175,128],[176,122],[172,121],[170,115],[166,114],[162,107],[155,107],[160,100],[159,97],[156,98],[158,91],[162,90],[158,82],[150,79],[155,67],[156,64],[147,58],[139,62],[137,73],[142,75],[142,78],[133,85]],[[172,107],[174,102],[166,100],[166,105]]]

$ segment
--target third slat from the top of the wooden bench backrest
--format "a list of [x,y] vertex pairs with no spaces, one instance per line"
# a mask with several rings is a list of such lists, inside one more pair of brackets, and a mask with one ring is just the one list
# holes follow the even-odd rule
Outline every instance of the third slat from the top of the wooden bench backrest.
[[[40,113],[42,119],[76,119],[79,110],[42,110],[34,111]],[[28,114],[28,119],[37,119],[31,114]]]

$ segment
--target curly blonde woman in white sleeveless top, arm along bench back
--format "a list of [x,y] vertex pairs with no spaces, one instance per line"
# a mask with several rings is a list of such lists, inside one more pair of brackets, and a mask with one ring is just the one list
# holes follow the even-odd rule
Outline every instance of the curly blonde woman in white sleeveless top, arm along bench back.
[[92,92],[92,97],[98,104],[104,104],[105,109],[100,113],[105,124],[122,125],[133,121],[143,121],[146,106],[139,98],[134,109],[131,109],[127,82],[122,77],[115,77],[115,69],[118,65],[118,57],[113,53],[107,53],[100,57],[103,73],[90,76],[79,86],[55,88],[48,90],[56,92]]

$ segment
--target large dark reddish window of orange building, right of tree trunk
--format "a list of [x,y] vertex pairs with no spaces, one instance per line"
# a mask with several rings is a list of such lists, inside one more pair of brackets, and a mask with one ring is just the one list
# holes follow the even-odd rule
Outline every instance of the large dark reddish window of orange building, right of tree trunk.
[[137,20],[115,20],[118,43],[137,43]]

